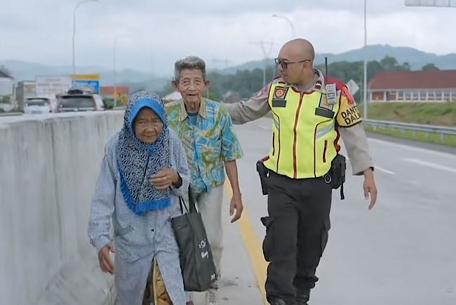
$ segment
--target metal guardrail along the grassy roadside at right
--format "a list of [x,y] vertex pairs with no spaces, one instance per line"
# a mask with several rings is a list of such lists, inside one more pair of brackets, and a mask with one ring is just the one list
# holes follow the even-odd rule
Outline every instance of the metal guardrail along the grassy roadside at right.
[[363,119],[363,124],[371,126],[373,129],[391,129],[401,131],[412,131],[413,136],[416,136],[417,132],[426,134],[426,138],[429,139],[430,134],[437,134],[441,137],[441,141],[445,141],[445,136],[456,136],[456,128],[447,126],[433,126],[424,124],[408,124],[391,121],[377,121],[375,119]]

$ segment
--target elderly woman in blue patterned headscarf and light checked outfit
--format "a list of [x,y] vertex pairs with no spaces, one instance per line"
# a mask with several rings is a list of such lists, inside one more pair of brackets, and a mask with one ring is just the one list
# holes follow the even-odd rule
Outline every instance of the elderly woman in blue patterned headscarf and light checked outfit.
[[185,150],[168,128],[161,98],[147,91],[133,94],[123,128],[106,145],[88,226],[101,270],[114,274],[120,305],[149,304],[154,269],[166,287],[164,304],[186,304],[170,219],[180,214],[179,196],[188,186]]

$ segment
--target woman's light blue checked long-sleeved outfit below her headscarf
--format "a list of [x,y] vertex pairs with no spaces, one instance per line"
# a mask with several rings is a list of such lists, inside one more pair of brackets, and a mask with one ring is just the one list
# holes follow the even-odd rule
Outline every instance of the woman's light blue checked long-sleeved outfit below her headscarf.
[[[179,262],[179,249],[170,219],[181,214],[179,196],[187,195],[189,169],[185,150],[177,135],[170,130],[171,167],[182,177],[182,186],[170,191],[172,204],[168,209],[147,212],[140,216],[123,201],[116,167],[117,136],[105,148],[100,176],[90,207],[88,236],[100,252],[114,240],[115,285],[120,304],[142,304],[147,275],[156,257],[168,294],[173,304],[185,304],[185,292]],[[110,230],[113,224],[114,234]]]

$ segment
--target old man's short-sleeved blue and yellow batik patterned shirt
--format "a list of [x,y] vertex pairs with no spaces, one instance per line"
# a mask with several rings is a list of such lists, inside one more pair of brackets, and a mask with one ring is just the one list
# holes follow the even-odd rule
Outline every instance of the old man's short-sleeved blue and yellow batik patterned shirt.
[[183,100],[166,105],[168,124],[174,129],[187,152],[192,173],[192,190],[210,192],[224,183],[224,162],[242,157],[232,119],[222,103],[201,100],[196,123],[185,109]]

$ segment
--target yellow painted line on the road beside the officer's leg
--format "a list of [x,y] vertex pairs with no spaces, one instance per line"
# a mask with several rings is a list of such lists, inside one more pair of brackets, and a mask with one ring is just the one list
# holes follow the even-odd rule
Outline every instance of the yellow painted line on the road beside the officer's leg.
[[[224,184],[224,188],[229,198],[232,197],[232,188],[229,185],[229,181]],[[245,205],[245,202],[244,202]],[[241,219],[237,221],[239,227],[241,228],[241,236],[246,245],[250,261],[252,263],[253,271],[257,275],[258,287],[263,296],[264,304],[269,304],[266,300],[266,291],[264,290],[264,283],[266,283],[266,270],[268,263],[264,261],[263,252],[262,252],[262,241],[255,232],[253,228],[252,221],[247,214],[246,209],[244,208],[242,212]]]

